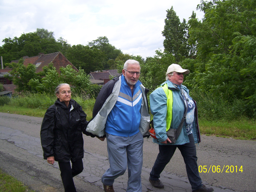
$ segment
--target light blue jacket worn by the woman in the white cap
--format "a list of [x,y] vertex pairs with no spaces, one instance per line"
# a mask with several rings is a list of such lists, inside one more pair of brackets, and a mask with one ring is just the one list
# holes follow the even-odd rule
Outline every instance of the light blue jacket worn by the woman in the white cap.
[[[172,123],[171,128],[177,129],[180,124],[180,121],[184,115],[185,103],[182,99],[180,90],[175,88],[175,86],[167,80],[162,85],[166,84],[168,88],[172,90],[173,96],[173,105],[172,105]],[[189,90],[186,86],[181,85],[181,87],[189,94]],[[151,113],[154,115],[154,130],[156,132],[157,139],[153,138],[153,142],[161,145],[165,145],[161,142],[166,141],[168,136],[166,135],[166,112],[167,112],[167,97],[163,88],[157,88],[154,90],[150,96],[150,109]],[[196,103],[195,103],[196,106]],[[198,118],[197,118],[197,108],[195,109],[195,117],[193,122],[192,134],[195,139],[195,143],[200,142],[200,132],[198,126]],[[186,133],[186,122],[183,124],[183,128],[181,130],[180,136],[176,138],[177,141],[175,144],[171,144],[167,142],[169,145],[182,145],[189,143],[189,137]]]

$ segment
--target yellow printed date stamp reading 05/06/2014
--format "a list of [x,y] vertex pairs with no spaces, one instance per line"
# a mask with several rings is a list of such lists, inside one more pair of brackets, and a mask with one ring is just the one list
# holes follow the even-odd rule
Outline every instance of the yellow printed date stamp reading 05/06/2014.
[[234,166],[234,165],[224,165],[223,167],[220,165],[211,165],[210,167],[207,165],[199,165],[199,172],[217,172],[217,173],[234,173],[234,172],[243,172],[243,166]]

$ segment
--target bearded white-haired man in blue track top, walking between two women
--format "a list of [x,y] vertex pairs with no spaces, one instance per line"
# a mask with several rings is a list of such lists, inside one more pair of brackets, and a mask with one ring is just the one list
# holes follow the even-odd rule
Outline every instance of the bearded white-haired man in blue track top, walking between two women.
[[[93,108],[93,119],[87,125],[88,132],[101,140],[104,135],[107,138],[110,168],[102,176],[105,192],[114,192],[114,180],[125,173],[127,166],[126,191],[142,191],[143,135],[149,129],[150,115],[148,90],[139,77],[140,63],[127,60],[122,75],[102,87]],[[98,130],[104,133],[99,134]]]

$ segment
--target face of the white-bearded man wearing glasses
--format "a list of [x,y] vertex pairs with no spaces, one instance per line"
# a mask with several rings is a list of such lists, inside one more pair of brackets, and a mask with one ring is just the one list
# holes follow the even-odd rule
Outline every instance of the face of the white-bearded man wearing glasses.
[[[138,74],[137,73],[132,74],[133,72],[137,72]],[[125,76],[125,80],[130,88],[132,88],[133,85],[137,83],[140,77],[139,72],[140,72],[140,65],[136,65],[136,64],[128,64],[127,69],[122,70],[122,74],[123,76]]]

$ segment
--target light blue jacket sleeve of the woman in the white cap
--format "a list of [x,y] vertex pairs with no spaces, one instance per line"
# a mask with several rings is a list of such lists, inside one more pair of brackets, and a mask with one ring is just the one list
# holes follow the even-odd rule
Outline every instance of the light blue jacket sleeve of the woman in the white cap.
[[154,130],[159,142],[166,141],[166,112],[167,112],[167,97],[163,88],[157,88],[150,96],[150,110],[154,115]]

